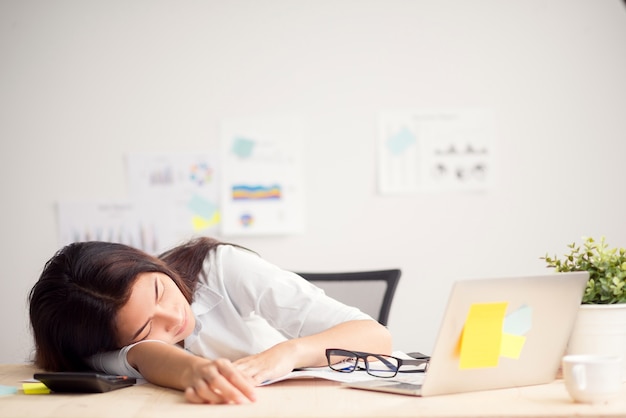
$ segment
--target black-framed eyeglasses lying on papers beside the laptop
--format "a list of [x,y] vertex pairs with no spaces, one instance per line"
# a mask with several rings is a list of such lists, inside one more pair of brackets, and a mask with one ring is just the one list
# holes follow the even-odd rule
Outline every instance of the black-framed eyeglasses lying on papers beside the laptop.
[[[365,370],[374,377],[394,377],[400,373],[424,373],[430,357],[401,359],[386,354],[364,353],[362,351],[327,348],[328,367],[341,373]],[[402,370],[400,370],[402,368]]]

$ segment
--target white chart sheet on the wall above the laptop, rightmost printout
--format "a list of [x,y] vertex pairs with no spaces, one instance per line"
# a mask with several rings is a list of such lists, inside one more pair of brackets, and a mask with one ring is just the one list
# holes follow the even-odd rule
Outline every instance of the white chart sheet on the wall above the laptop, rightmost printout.
[[495,179],[495,118],[488,109],[381,112],[382,194],[484,191]]

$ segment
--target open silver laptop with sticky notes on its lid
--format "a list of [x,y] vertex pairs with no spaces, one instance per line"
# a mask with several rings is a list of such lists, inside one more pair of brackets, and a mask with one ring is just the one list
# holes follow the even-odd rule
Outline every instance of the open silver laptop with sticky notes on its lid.
[[587,272],[458,281],[421,382],[373,378],[344,386],[433,396],[555,379]]

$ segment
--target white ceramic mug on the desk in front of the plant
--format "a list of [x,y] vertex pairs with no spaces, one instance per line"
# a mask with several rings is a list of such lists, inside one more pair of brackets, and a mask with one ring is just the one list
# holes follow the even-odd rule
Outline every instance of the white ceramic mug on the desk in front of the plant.
[[576,402],[601,403],[619,395],[622,388],[622,359],[597,354],[563,357],[563,380]]

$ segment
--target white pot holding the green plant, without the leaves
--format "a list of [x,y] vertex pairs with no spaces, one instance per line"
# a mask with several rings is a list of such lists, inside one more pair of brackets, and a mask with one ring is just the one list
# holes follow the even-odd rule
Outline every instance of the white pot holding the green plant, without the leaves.
[[580,305],[567,354],[620,356],[626,381],[626,303]]

